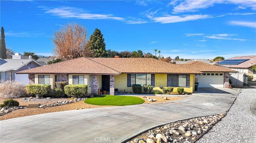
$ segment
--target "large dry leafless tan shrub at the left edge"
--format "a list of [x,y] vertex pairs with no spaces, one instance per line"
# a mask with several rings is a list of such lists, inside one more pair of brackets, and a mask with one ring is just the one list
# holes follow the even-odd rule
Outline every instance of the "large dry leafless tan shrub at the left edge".
[[0,81],[0,98],[18,98],[27,94],[26,87],[21,82],[13,80]]

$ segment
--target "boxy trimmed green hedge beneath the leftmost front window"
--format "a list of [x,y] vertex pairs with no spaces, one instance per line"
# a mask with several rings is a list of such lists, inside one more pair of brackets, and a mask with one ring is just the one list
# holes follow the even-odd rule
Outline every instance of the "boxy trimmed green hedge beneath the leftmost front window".
[[32,94],[35,96],[39,94],[39,96],[48,96],[51,90],[50,84],[28,84],[26,85],[28,94]]

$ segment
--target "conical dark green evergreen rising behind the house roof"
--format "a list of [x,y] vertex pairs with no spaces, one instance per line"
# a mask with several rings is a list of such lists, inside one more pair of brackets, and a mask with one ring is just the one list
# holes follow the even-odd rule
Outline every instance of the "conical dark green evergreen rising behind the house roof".
[[106,44],[100,29],[96,28],[90,36],[88,47],[92,50],[92,57],[104,57],[106,53]]

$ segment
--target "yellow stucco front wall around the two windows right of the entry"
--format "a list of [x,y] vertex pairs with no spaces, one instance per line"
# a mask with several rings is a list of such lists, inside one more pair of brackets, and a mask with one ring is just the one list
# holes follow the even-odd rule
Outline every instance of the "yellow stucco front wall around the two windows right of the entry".
[[[184,87],[184,92],[192,93],[194,90],[194,74],[190,74],[190,87]],[[115,76],[115,88],[118,88],[118,91],[125,90],[125,92],[132,92],[132,87],[127,87],[127,74],[120,74],[119,76]],[[166,87],[167,86],[167,74],[155,74],[155,87],[153,88],[152,92],[158,91],[162,92],[160,86]],[[173,92],[177,92],[178,87],[174,87]],[[142,89],[142,92],[143,89]]]

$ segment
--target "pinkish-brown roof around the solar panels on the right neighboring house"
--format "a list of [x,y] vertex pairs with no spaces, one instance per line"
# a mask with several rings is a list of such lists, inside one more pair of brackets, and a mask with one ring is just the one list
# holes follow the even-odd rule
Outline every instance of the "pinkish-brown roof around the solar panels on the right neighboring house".
[[228,60],[232,60],[232,59],[250,59],[250,60],[245,61],[243,63],[240,63],[238,65],[223,65],[223,66],[228,67],[228,68],[244,68],[244,69],[247,69],[249,67],[252,67],[253,64],[254,65],[256,64],[256,55],[234,57],[234,58],[230,58]]

